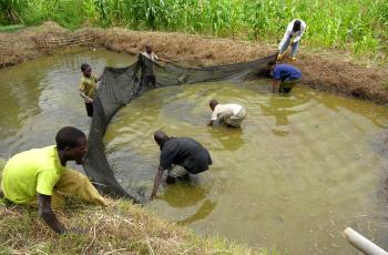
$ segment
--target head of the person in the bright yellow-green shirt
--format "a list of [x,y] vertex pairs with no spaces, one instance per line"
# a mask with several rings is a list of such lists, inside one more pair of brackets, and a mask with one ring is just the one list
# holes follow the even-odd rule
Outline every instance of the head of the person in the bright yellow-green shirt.
[[64,162],[75,161],[83,163],[83,156],[88,150],[86,135],[73,126],[64,126],[55,135],[57,149],[61,152]]

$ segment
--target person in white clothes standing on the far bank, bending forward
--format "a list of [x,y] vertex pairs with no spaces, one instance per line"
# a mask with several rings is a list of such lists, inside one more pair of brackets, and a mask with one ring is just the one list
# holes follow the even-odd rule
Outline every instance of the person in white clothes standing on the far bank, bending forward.
[[[298,20],[293,20],[288,26],[287,26],[287,30],[284,33],[284,37],[279,43],[279,53],[277,55],[277,60],[282,60],[284,57],[284,52],[287,50],[289,43],[292,44],[292,53],[289,55],[289,58],[295,61],[296,60],[296,52],[298,50],[299,43],[300,43],[300,39],[303,33],[306,30],[306,23],[298,19]],[[292,41],[292,39],[294,38],[294,40]]]

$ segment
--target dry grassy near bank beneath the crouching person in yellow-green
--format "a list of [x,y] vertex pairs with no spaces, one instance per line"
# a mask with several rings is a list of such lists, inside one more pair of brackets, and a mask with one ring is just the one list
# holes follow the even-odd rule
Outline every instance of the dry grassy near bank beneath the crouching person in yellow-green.
[[163,222],[127,201],[106,208],[72,202],[57,212],[83,233],[59,236],[37,210],[0,205],[1,254],[269,254],[221,238],[200,238],[190,230]]

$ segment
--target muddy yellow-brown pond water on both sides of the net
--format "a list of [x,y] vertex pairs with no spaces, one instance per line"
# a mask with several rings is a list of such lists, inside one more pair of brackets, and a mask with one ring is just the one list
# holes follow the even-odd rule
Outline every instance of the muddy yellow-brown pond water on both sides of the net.
[[[133,58],[104,50],[55,54],[0,70],[0,156],[53,144],[58,129],[88,132],[78,93],[80,64],[95,74]],[[206,126],[207,102],[241,103],[242,129]],[[219,235],[283,254],[355,254],[341,231],[354,227],[388,249],[382,139],[388,109],[304,88],[269,93],[268,81],[206,83],[150,91],[121,109],[105,135],[123,186],[153,185],[157,129],[194,137],[214,165],[161,186],[146,205],[200,235]]]

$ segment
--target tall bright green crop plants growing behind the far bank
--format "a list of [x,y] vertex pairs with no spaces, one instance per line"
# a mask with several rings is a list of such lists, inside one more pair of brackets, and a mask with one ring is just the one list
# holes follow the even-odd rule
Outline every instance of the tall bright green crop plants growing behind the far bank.
[[[75,29],[120,26],[277,42],[294,18],[308,29],[304,44],[349,50],[370,58],[388,52],[386,0],[9,0],[0,23],[53,20]],[[0,3],[1,4],[1,3]]]

